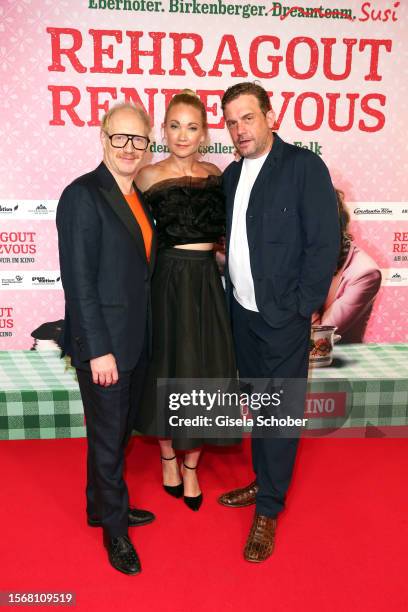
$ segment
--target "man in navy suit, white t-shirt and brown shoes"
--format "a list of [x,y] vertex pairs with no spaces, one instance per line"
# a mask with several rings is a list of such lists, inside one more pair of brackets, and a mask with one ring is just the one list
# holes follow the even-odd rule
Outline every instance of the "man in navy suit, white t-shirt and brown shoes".
[[[272,131],[267,92],[239,83],[224,94],[227,128],[241,156],[224,172],[226,291],[240,377],[284,379],[303,416],[311,315],[324,303],[339,254],[336,194],[323,161]],[[300,385],[297,385],[297,382]],[[303,383],[303,384],[302,384]],[[256,504],[247,561],[273,550],[298,435],[252,434],[254,482],[222,495],[228,507]]]

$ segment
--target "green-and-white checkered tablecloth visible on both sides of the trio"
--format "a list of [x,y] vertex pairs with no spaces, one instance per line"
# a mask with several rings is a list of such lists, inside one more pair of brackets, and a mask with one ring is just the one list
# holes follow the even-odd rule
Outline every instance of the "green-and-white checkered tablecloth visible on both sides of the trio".
[[[311,369],[308,387],[310,430],[408,426],[408,345],[336,346],[332,366]],[[0,440],[85,435],[76,373],[58,351],[0,351]]]

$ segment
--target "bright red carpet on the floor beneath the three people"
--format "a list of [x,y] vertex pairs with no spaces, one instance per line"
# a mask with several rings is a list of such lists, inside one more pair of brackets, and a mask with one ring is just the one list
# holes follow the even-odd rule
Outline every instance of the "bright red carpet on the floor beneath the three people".
[[253,509],[216,502],[251,478],[248,444],[206,452],[196,514],[162,491],[156,446],[135,440],[131,499],[157,521],[132,529],[143,572],[128,577],[85,523],[85,440],[2,442],[0,590],[74,591],[75,609],[98,612],[406,610],[407,450],[406,440],[304,440],[275,553],[252,565],[242,549]]

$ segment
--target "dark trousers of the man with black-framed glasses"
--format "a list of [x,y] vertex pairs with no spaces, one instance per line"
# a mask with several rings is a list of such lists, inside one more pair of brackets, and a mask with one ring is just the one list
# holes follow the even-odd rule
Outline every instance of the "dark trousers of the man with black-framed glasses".
[[91,372],[77,370],[86,418],[87,514],[99,518],[109,538],[128,533],[129,496],[123,478],[125,449],[132,433],[147,369],[146,349],[136,367],[119,372],[116,385],[101,387]]

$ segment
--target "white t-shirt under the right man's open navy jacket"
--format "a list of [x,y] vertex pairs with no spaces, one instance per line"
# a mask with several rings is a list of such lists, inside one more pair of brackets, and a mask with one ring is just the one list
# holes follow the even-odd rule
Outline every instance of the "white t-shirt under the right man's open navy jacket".
[[228,252],[228,269],[234,286],[234,297],[247,310],[258,312],[254,281],[249,259],[246,212],[256,178],[269,154],[256,159],[244,159],[237,185]]

